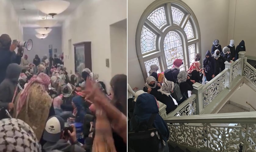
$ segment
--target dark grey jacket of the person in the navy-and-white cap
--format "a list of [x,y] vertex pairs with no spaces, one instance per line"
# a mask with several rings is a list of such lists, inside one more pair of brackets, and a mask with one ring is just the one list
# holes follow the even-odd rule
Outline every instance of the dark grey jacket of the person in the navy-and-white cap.
[[[79,143],[80,144],[80,143]],[[80,145],[71,145],[64,139],[60,139],[57,143],[46,142],[43,146],[45,151],[60,150],[62,152],[84,152]]]

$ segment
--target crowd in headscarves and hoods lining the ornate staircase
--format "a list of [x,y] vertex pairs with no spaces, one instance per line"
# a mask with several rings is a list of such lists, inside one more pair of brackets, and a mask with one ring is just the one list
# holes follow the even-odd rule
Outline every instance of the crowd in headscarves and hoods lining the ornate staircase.
[[[224,62],[231,63],[237,60],[238,53],[245,51],[244,40],[236,48],[234,45],[234,40],[230,40],[230,44],[222,49],[219,40],[214,40],[211,52],[208,50],[205,54],[202,68],[201,54],[197,53],[187,71],[180,71],[180,67],[183,65],[182,59],[173,60],[172,68],[166,69],[162,73],[157,73],[158,65],[152,64],[143,90],[134,92],[137,88],[132,89],[128,84],[128,128],[130,129],[128,146],[130,151],[169,151],[166,143],[169,138],[169,130],[159,115],[158,101],[166,105],[166,114],[175,110],[189,98],[189,91],[193,90],[194,83],[202,83],[203,77],[205,77],[205,82],[211,81],[225,69]],[[161,74],[164,74],[166,80],[160,77]],[[152,128],[156,129],[156,135],[152,134]],[[143,131],[143,133],[137,137],[139,131]],[[152,136],[147,136],[147,133]],[[157,140],[154,140],[155,136]],[[157,148],[155,149],[155,147]]]

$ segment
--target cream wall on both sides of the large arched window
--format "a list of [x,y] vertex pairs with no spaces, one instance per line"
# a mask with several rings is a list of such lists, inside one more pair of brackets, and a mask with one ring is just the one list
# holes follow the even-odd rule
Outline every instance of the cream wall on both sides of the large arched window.
[[[144,79],[137,59],[135,34],[141,14],[154,0],[128,1],[128,83],[130,86],[143,88]],[[228,0],[183,0],[197,17],[201,32],[202,58],[212,47],[212,42],[219,39],[222,46],[227,45],[229,24]],[[131,10],[131,11],[129,11]]]

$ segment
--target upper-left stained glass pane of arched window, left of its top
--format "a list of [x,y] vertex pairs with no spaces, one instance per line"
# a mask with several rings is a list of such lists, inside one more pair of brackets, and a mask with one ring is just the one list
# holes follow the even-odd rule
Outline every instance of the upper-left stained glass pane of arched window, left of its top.
[[159,29],[166,24],[165,18],[165,9],[164,7],[160,7],[153,11],[149,16],[148,20],[150,20],[156,27]]

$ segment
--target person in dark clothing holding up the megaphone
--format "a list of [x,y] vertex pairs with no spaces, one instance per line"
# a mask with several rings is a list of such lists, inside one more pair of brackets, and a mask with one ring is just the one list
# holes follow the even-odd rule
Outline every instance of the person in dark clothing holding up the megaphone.
[[6,69],[9,64],[21,62],[22,47],[18,48],[17,54],[15,53],[16,44],[12,44],[12,40],[9,35],[2,34],[0,36],[0,83],[5,79]]

